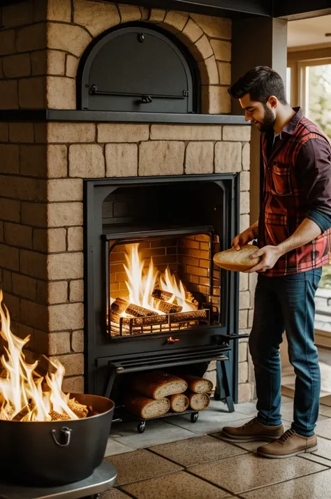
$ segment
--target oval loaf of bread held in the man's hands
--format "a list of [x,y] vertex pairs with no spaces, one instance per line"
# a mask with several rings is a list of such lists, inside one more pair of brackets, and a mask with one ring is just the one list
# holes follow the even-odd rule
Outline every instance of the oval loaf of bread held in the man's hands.
[[225,270],[234,270],[235,272],[244,272],[256,266],[261,257],[251,259],[249,256],[258,251],[258,247],[253,245],[244,245],[239,251],[235,248],[222,251],[214,255],[214,263]]

